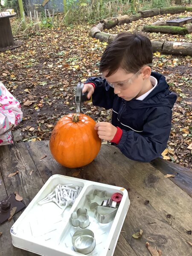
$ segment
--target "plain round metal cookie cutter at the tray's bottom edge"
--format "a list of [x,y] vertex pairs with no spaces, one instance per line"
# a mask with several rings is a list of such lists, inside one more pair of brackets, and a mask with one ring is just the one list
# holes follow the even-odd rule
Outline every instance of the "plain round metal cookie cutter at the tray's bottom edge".
[[87,254],[95,248],[94,234],[89,229],[78,230],[72,237],[73,248],[76,252]]

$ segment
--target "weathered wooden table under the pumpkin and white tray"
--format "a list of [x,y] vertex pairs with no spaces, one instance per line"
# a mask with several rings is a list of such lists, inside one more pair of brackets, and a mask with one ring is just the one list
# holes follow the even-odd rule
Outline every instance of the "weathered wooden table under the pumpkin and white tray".
[[[17,175],[8,177],[17,170]],[[79,170],[78,178],[128,190],[131,204],[114,256],[150,256],[146,241],[161,249],[163,256],[192,256],[191,170],[159,158],[136,162],[108,144],[102,144],[96,159]],[[0,201],[17,191],[27,206],[50,176],[73,176],[77,169],[58,164],[50,154],[49,142],[40,141],[1,146],[0,172]],[[166,174],[175,177],[165,178]],[[10,228],[20,214],[0,225],[2,256],[36,255],[12,245]],[[132,235],[140,229],[142,237],[134,239]]]

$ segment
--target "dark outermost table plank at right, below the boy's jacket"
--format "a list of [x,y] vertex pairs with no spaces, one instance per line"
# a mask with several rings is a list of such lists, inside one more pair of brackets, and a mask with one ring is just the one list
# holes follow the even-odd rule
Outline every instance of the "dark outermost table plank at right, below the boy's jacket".
[[172,182],[177,184],[188,195],[192,197],[192,170],[180,166],[176,163],[157,158],[150,162],[154,168],[158,169],[164,175],[173,174],[175,178],[170,178]]

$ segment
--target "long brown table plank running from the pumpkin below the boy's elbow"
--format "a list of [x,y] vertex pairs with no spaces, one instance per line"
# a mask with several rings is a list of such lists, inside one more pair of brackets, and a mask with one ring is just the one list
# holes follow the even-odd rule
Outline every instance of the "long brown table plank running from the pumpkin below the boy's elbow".
[[179,231],[183,238],[189,239],[186,230],[192,230],[191,197],[149,163],[127,161],[126,158],[123,161],[120,157],[122,153],[116,148],[109,147],[108,150],[116,152],[113,157],[105,152],[102,154],[111,165],[118,168],[119,173],[145,196],[165,221]]

